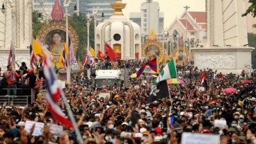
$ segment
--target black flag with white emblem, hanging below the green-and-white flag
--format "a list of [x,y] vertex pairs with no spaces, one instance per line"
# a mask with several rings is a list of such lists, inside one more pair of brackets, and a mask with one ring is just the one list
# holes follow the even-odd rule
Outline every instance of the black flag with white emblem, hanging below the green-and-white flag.
[[166,80],[163,80],[152,87],[150,96],[147,98],[147,103],[154,102],[155,100],[161,100],[167,96],[169,96],[168,84]]

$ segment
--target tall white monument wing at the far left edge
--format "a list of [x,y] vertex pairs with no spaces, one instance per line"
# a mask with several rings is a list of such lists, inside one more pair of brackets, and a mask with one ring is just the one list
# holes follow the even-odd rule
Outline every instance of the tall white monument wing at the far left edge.
[[29,46],[32,42],[33,0],[3,3],[6,11],[0,19],[0,66],[6,68],[10,45],[15,51],[15,61],[29,66]]

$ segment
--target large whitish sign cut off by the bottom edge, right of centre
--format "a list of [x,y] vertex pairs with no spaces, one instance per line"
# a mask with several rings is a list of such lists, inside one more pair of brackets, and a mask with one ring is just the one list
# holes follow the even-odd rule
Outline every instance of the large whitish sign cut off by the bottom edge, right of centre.
[[218,144],[219,141],[220,136],[218,134],[182,133],[182,144]]

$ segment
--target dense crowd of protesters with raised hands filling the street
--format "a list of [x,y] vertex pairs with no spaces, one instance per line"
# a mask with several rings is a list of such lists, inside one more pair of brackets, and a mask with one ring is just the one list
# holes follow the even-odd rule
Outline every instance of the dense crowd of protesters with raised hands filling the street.
[[[93,73],[95,69],[126,67],[130,75],[144,62],[95,60],[90,69]],[[6,85],[3,85],[4,82],[0,85],[2,93],[3,88],[20,85],[38,89],[34,71],[27,69],[26,64],[22,65],[19,71],[8,66],[1,73],[3,68],[0,68],[2,81],[6,79]],[[163,65],[159,66],[160,69]],[[43,65],[38,64],[37,69],[40,73]],[[194,66],[177,66],[177,73],[178,78],[185,83],[169,84],[170,96],[152,103],[147,103],[147,98],[150,97],[154,79],[146,76],[130,78],[127,87],[105,85],[91,87],[89,91],[91,81],[88,78],[74,79],[71,84],[66,84],[63,91],[84,143],[175,144],[181,143],[185,132],[216,134],[221,144],[256,143],[255,71],[237,75],[212,69],[200,70]],[[202,73],[205,75],[203,82]],[[44,77],[43,73],[40,77]],[[139,86],[139,89],[134,86]],[[224,91],[226,88],[236,90]],[[7,93],[11,92],[9,89]],[[102,97],[101,93],[109,93],[109,96]],[[40,136],[32,135],[35,126],[30,132],[24,130],[27,120],[58,124],[48,110],[47,100],[41,98],[42,93],[37,93],[37,96],[23,108],[12,102],[7,107],[7,102],[3,102],[0,111],[0,143],[78,143],[74,129],[66,125],[62,125],[64,131],[60,136],[51,134],[47,126]],[[58,105],[67,115],[63,100]]]

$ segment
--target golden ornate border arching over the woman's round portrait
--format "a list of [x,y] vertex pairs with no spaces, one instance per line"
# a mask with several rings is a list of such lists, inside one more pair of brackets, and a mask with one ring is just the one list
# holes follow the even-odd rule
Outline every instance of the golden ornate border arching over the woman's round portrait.
[[[43,25],[36,37],[40,40],[40,42],[45,43],[45,37],[52,30],[66,31],[65,21],[51,21],[48,24]],[[79,36],[77,34],[77,31],[74,30],[74,28],[70,25],[68,26],[68,35],[70,37],[70,41],[74,46],[74,53],[76,53],[77,49],[79,48]]]

